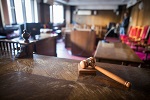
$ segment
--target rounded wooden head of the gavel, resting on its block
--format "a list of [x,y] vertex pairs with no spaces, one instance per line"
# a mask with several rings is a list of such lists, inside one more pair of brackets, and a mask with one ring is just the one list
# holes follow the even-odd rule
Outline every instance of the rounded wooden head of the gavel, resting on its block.
[[95,58],[94,57],[89,57],[86,60],[82,60],[80,62],[80,66],[83,69],[87,68],[88,66],[91,66],[91,67],[94,68],[95,67]]

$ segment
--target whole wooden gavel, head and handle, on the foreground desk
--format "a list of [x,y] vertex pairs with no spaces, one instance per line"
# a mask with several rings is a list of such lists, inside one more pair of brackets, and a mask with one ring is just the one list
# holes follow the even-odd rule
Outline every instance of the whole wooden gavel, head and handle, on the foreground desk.
[[92,68],[95,68],[96,70],[98,70],[99,72],[103,73],[104,75],[110,77],[111,79],[123,84],[124,86],[126,87],[130,87],[131,86],[131,83],[128,82],[128,81],[125,81],[124,79],[120,78],[119,76],[99,67],[99,66],[96,66],[95,65],[95,58],[94,57],[90,57],[90,58],[87,58],[86,60],[82,60],[80,62],[80,67],[83,68],[83,69],[86,69],[88,68],[89,66],[91,66]]

